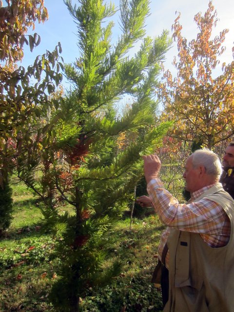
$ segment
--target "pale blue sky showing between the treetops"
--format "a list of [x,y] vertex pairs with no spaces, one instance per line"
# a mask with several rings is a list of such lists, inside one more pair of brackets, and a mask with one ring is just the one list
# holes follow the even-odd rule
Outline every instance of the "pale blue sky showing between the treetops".
[[[112,2],[118,7],[118,0]],[[180,23],[183,26],[183,36],[188,40],[195,38],[197,29],[194,16],[198,12],[204,14],[208,8],[208,2],[208,0],[152,0],[150,4],[151,15],[146,20],[147,35],[155,37],[160,35],[163,29],[171,31],[171,26],[176,18],[176,11],[179,11],[181,13]],[[44,3],[49,12],[49,20],[44,24],[36,25],[35,31],[41,37],[39,46],[32,53],[25,46],[25,56],[22,61],[22,65],[25,67],[32,64],[37,55],[45,53],[46,49],[52,51],[58,41],[61,42],[62,57],[66,63],[74,61],[78,56],[77,26],[63,0],[44,0]],[[73,3],[78,3],[78,1],[73,0]],[[219,22],[215,28],[215,35],[218,35],[224,28],[230,29],[224,43],[226,51],[221,59],[221,62],[230,63],[233,60],[232,47],[234,45],[234,1],[213,0],[213,4],[217,10],[217,18],[219,18]],[[116,21],[116,25],[113,39],[115,39],[118,33],[120,34],[117,15],[114,20]],[[29,33],[33,32],[30,30]],[[174,47],[166,55],[166,68],[173,69],[172,61],[176,54],[177,50],[174,44]]]

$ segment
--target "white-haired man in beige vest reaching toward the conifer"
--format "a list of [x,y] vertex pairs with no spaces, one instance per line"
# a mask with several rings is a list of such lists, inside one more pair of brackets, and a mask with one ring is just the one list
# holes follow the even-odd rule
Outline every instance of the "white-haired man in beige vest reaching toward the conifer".
[[[231,312],[234,307],[234,200],[218,182],[221,164],[209,150],[195,151],[183,177],[191,199],[186,204],[164,189],[160,160],[143,156],[147,191],[161,221],[168,226],[159,257],[169,253],[169,299],[164,312]],[[147,197],[138,198],[142,205]],[[167,246],[166,245],[166,246]]]

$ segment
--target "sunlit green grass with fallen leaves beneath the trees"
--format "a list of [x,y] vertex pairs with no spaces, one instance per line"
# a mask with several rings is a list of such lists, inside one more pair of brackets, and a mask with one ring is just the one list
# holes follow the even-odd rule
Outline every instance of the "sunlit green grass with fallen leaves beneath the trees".
[[[0,240],[0,312],[54,312],[49,293],[59,278],[57,241],[43,226],[43,216],[23,184],[13,186],[13,221]],[[83,312],[161,311],[161,294],[150,283],[157,262],[162,225],[156,216],[119,221],[107,239],[105,267],[122,262],[121,274],[104,288],[80,298]],[[59,294],[58,294],[59,295]],[[124,310],[125,309],[125,310]]]

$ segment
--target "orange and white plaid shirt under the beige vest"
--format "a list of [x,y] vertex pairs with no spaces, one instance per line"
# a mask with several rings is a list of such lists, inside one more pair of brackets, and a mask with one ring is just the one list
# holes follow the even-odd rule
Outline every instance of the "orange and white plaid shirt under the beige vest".
[[[147,191],[153,207],[161,221],[168,226],[163,232],[158,246],[160,260],[170,233],[170,227],[180,231],[199,233],[202,239],[211,247],[223,247],[228,243],[231,224],[223,208],[214,201],[205,198],[195,202],[196,198],[212,186],[214,184],[192,193],[187,204],[179,204],[178,200],[164,189],[160,179],[153,179],[148,183]],[[168,260],[169,253],[166,256],[167,267]]]

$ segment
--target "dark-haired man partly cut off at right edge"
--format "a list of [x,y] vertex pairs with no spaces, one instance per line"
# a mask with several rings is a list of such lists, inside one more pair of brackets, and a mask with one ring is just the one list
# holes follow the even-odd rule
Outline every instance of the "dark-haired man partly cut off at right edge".
[[223,156],[223,173],[220,177],[223,188],[234,198],[234,142],[225,149]]

